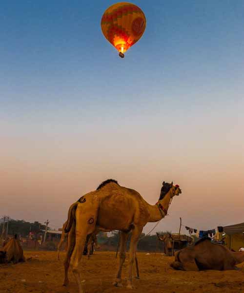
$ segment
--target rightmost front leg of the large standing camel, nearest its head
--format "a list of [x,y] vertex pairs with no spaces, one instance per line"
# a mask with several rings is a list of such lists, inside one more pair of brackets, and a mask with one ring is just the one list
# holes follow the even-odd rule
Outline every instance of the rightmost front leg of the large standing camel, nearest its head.
[[134,230],[132,230],[131,240],[130,240],[130,251],[129,251],[129,277],[127,282],[127,288],[132,289],[132,272],[133,272],[133,265],[135,263],[136,259],[136,250],[137,250],[137,243],[139,240],[139,237],[142,233],[143,227],[135,227]]

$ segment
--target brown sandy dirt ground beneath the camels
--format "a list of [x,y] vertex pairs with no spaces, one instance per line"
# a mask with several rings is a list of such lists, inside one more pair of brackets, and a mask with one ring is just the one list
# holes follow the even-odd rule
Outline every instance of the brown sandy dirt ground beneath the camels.
[[[0,265],[0,293],[77,293],[72,272],[70,285],[62,286],[64,252],[61,261],[54,251],[24,251],[32,260],[17,265]],[[172,257],[162,253],[138,252],[141,279],[134,280],[135,289],[112,286],[117,272],[115,252],[94,252],[82,258],[82,280],[86,293],[244,293],[243,271],[181,272],[169,267]],[[126,285],[128,261],[122,274]]]

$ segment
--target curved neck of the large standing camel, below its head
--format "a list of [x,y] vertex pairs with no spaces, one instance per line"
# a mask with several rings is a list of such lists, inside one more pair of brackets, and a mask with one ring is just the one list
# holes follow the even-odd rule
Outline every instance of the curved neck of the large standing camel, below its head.
[[[165,210],[165,211],[168,210],[170,199],[171,199],[171,194],[170,194],[170,192],[168,192],[164,196],[163,199],[161,199],[157,202],[157,204],[155,204],[155,205],[147,204],[147,210],[149,213],[149,221],[148,222],[158,222],[162,219],[162,213],[164,214],[164,216],[166,215],[163,210]],[[160,205],[163,207],[163,209],[161,209],[162,212],[159,209]]]

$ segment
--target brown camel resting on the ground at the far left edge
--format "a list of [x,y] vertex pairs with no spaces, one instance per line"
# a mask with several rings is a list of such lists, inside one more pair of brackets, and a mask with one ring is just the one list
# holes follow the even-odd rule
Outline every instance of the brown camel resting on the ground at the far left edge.
[[18,262],[24,262],[23,250],[20,246],[20,241],[15,235],[9,242],[3,247],[2,252],[7,255],[7,262],[13,262],[14,264]]

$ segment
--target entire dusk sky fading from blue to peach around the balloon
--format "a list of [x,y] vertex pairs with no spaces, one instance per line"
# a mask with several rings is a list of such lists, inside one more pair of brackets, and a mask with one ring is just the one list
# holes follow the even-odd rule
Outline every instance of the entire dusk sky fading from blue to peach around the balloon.
[[244,222],[244,1],[138,0],[124,59],[100,27],[113,3],[1,3],[0,215],[59,228],[114,178],[151,204],[181,186],[157,230]]

